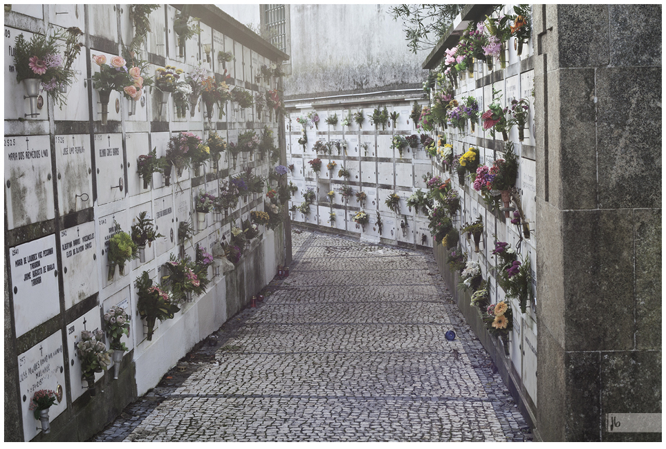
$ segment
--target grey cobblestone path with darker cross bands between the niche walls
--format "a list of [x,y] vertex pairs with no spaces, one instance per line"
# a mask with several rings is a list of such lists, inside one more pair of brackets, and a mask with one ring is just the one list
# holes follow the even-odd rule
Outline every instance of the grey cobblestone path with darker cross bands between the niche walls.
[[293,253],[91,441],[531,441],[431,255],[305,230]]

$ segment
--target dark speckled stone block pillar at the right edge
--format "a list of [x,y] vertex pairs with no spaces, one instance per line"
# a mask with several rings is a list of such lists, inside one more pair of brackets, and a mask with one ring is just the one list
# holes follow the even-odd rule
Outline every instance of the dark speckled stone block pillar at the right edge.
[[661,6],[535,5],[537,439],[661,412]]

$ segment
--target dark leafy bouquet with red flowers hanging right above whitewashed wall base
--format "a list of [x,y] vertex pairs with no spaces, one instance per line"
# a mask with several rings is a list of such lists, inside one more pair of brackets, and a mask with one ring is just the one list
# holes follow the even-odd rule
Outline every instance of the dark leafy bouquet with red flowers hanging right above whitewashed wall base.
[[137,290],[138,301],[136,309],[141,319],[145,319],[148,328],[146,339],[153,339],[155,321],[165,321],[174,318],[174,314],[180,311],[169,294],[160,287],[153,285],[153,280],[148,276],[148,271],[144,271],[141,276],[136,278],[134,286]]

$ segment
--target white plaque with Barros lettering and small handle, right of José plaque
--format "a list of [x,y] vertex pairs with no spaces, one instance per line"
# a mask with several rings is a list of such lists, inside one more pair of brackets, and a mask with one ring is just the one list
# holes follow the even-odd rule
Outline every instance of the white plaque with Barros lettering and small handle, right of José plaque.
[[98,204],[122,200],[127,193],[127,186],[124,185],[122,135],[95,134],[95,166],[98,171]]

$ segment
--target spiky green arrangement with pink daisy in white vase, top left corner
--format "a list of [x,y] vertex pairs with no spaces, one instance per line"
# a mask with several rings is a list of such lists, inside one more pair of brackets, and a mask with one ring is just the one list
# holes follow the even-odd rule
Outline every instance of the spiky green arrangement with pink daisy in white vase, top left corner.
[[[71,86],[76,77],[75,70],[72,70],[71,66],[81,51],[80,35],[83,35],[83,32],[79,28],[71,27],[59,30],[48,37],[34,34],[30,41],[26,41],[23,33],[16,37],[14,41],[16,80],[17,82],[35,80],[26,81],[26,85],[29,86],[28,97],[35,98],[35,106],[41,86],[41,89],[62,109],[65,100],[63,90]],[[60,55],[59,41],[65,41],[64,60]],[[37,115],[33,111],[32,100],[30,109],[30,115]]]

